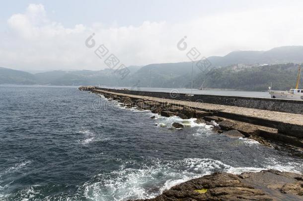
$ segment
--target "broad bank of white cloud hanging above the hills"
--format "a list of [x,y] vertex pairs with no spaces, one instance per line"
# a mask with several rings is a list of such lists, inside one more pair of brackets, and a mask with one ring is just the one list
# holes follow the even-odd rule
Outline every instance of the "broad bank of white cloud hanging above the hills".
[[47,18],[42,4],[30,4],[24,13],[8,20],[8,33],[0,33],[0,66],[19,69],[101,69],[105,65],[84,45],[95,33],[96,47],[104,44],[125,65],[188,61],[177,42],[187,36],[189,48],[203,56],[225,55],[233,50],[267,50],[303,45],[300,8],[274,7],[197,18],[169,24],[145,21],[140,26],[102,22],[66,28]]

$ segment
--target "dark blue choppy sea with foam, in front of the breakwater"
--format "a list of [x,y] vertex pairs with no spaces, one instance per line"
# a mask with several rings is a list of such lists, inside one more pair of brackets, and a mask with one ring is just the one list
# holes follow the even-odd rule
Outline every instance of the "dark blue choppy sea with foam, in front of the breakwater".
[[[301,172],[302,159],[73,87],[0,86],[0,200],[152,198],[214,171]],[[183,130],[171,123],[183,122]]]

